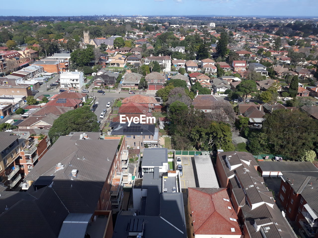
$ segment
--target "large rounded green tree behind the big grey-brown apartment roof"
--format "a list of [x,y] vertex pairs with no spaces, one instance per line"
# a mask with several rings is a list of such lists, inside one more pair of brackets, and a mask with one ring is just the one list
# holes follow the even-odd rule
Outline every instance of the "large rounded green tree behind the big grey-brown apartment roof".
[[56,142],[60,136],[68,135],[71,131],[100,131],[97,116],[90,111],[88,106],[68,111],[53,122],[52,128],[49,130],[49,137],[52,144]]

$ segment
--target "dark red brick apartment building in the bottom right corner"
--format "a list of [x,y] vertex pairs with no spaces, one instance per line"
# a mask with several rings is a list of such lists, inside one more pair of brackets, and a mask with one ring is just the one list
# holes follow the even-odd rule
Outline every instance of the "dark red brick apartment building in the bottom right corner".
[[318,236],[318,171],[281,172],[278,200],[302,237]]

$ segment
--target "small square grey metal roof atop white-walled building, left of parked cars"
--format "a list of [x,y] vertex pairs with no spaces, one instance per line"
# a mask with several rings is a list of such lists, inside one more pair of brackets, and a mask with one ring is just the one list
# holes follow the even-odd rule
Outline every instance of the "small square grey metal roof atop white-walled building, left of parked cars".
[[147,148],[143,151],[141,166],[162,166],[168,163],[167,148]]

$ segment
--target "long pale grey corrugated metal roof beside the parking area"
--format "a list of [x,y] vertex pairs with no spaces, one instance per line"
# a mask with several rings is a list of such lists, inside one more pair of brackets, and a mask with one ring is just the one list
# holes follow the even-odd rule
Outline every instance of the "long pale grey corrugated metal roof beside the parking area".
[[210,155],[195,155],[197,177],[200,188],[219,188]]

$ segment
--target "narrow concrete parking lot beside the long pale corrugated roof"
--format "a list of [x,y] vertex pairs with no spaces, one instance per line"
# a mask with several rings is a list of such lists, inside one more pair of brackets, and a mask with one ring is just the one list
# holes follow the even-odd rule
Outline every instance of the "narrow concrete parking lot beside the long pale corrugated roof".
[[183,193],[188,194],[188,188],[195,188],[197,187],[196,184],[198,181],[195,179],[196,176],[196,169],[194,163],[194,157],[182,155],[182,168],[183,168],[183,175],[180,176],[181,180],[181,189]]

